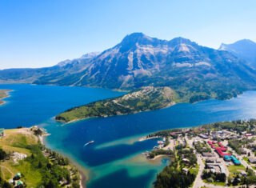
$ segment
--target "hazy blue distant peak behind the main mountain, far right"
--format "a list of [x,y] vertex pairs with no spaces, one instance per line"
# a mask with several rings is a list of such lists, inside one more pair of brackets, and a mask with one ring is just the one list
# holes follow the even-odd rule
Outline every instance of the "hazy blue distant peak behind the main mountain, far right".
[[218,50],[229,51],[238,58],[246,60],[251,66],[256,68],[256,43],[251,40],[243,39],[233,44],[222,43]]

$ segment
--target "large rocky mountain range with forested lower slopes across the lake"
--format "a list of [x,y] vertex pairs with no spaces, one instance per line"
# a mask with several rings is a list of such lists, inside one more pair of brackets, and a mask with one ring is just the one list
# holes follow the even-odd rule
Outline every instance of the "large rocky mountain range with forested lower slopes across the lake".
[[0,83],[123,90],[169,86],[182,101],[231,98],[243,90],[256,88],[256,70],[248,65],[246,58],[231,50],[238,49],[234,46],[239,43],[222,44],[221,50],[214,50],[186,38],[166,41],[134,33],[102,53],[86,54],[56,66],[1,70]]

